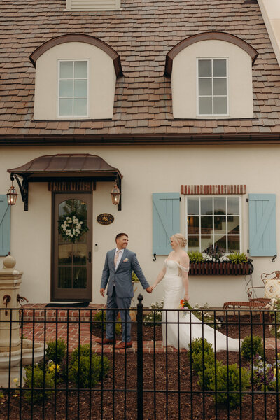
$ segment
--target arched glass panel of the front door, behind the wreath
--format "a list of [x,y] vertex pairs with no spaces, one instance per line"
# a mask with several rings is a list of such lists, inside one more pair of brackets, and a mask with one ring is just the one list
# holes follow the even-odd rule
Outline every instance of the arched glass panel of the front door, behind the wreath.
[[[59,204],[59,218],[71,214],[87,224],[87,204],[83,200],[71,198]],[[74,243],[58,235],[59,288],[87,287],[87,233],[83,232]]]

